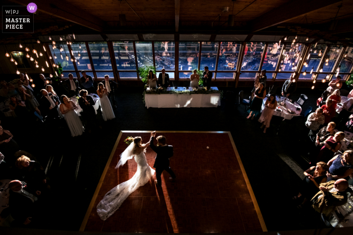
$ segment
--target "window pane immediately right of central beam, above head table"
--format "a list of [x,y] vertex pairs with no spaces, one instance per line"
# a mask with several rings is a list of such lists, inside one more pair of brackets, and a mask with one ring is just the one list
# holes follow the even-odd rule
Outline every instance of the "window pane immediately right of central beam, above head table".
[[179,70],[197,69],[199,63],[199,48],[199,42],[179,43]]

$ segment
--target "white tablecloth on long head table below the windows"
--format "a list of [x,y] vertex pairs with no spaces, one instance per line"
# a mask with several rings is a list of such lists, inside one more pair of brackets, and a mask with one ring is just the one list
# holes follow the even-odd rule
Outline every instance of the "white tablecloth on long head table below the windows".
[[[212,87],[213,90],[218,89]],[[172,90],[168,88],[167,91]],[[186,88],[178,88],[175,91],[184,91]],[[189,88],[193,91],[193,88]],[[220,105],[220,94],[145,94],[147,108],[208,108]]]

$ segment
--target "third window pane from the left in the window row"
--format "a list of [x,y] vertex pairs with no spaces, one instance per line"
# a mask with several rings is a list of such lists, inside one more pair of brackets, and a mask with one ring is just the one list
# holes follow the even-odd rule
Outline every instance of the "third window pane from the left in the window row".
[[88,43],[95,70],[111,70],[109,49],[106,42]]

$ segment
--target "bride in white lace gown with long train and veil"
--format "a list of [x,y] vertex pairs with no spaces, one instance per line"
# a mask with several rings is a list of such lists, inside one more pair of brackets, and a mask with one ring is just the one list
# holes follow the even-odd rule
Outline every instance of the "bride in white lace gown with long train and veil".
[[[153,132],[152,132],[153,133]],[[151,133],[151,135],[152,135]],[[141,137],[135,137],[134,141],[120,154],[120,161],[115,169],[123,166],[128,160],[135,156],[137,172],[130,180],[117,185],[107,192],[97,205],[97,213],[102,220],[106,220],[123,204],[125,199],[140,186],[145,185],[154,175],[154,170],[148,166],[145,149],[150,143],[142,144]]]

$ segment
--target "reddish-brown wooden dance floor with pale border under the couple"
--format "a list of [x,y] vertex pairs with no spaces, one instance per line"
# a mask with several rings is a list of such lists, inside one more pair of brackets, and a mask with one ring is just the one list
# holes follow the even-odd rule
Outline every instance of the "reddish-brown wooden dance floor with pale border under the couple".
[[[157,132],[173,145],[170,168],[177,179],[162,174],[162,187],[155,175],[132,193],[107,220],[96,212],[98,202],[116,185],[131,179],[137,170],[134,159],[114,169],[128,146],[124,139],[150,132],[120,133],[87,210],[80,231],[108,232],[256,232],[266,231],[254,193],[228,132]],[[153,167],[156,153],[147,148],[147,163]]]

